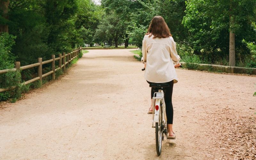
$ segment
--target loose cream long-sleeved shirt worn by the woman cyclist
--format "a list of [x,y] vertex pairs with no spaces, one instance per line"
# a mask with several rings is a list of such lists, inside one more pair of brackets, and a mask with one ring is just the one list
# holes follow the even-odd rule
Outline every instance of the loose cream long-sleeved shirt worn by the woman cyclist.
[[176,51],[176,43],[172,36],[168,38],[153,38],[145,35],[142,41],[143,63],[146,63],[145,79],[153,83],[165,83],[178,77],[174,64],[178,64],[180,56]]

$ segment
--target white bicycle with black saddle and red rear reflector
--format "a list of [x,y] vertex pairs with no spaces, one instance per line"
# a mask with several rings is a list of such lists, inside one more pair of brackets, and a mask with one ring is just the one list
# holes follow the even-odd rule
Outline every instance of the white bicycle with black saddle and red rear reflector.
[[167,83],[152,83],[149,87],[153,87],[154,92],[154,108],[153,108],[153,124],[152,128],[156,128],[156,153],[160,156],[162,151],[162,140],[164,134],[168,134],[167,117],[165,112],[164,92],[165,88],[169,87]]

